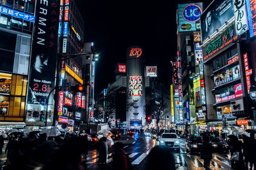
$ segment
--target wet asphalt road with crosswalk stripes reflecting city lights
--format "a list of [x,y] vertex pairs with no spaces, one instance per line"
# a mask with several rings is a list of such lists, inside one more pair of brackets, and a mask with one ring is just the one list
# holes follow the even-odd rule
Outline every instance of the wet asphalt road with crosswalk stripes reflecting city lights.
[[[156,139],[151,139],[144,134],[135,134],[132,136],[135,139],[135,143],[124,144],[125,152],[131,159],[132,166],[135,170],[143,170],[147,165],[147,155],[150,150],[158,145]],[[184,146],[184,139],[180,140],[180,153],[173,152],[175,157],[175,164],[177,169],[204,169],[204,160],[200,159],[199,155],[190,155],[186,153]],[[87,167],[88,169],[111,169],[112,153],[109,153],[108,166],[100,168],[97,163],[97,157],[99,153],[96,150],[90,150],[87,155]],[[214,153],[211,161],[211,169],[230,169],[230,155]]]

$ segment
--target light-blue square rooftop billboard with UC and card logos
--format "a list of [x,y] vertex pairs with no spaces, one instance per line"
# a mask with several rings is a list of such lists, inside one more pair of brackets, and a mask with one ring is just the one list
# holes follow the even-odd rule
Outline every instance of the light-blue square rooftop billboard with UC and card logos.
[[200,30],[202,3],[178,4],[177,21],[179,32]]

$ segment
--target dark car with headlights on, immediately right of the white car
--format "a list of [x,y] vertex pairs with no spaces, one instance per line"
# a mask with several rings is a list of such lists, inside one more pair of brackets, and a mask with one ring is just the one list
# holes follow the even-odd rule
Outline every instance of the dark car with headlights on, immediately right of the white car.
[[203,146],[203,138],[189,135],[185,141],[186,152],[192,154],[200,154]]

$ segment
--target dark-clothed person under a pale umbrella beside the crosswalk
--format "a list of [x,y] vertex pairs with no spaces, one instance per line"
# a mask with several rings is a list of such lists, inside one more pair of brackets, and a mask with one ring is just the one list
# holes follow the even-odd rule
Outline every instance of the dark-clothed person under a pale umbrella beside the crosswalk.
[[108,161],[108,145],[107,138],[103,136],[100,138],[100,152],[99,152],[99,164],[100,166],[106,166]]

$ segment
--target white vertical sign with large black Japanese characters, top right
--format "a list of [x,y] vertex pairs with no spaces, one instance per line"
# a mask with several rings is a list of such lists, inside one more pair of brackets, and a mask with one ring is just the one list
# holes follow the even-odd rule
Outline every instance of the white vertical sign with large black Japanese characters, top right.
[[241,35],[248,30],[246,7],[244,0],[233,0],[236,34]]

